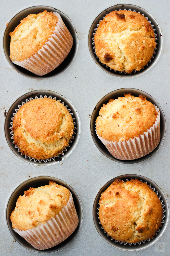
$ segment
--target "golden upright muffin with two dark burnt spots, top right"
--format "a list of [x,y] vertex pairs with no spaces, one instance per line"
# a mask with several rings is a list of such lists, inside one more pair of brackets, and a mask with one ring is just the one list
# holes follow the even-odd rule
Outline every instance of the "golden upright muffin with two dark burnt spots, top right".
[[94,41],[101,63],[127,73],[141,70],[156,46],[154,31],[147,19],[126,10],[107,14],[99,23]]

